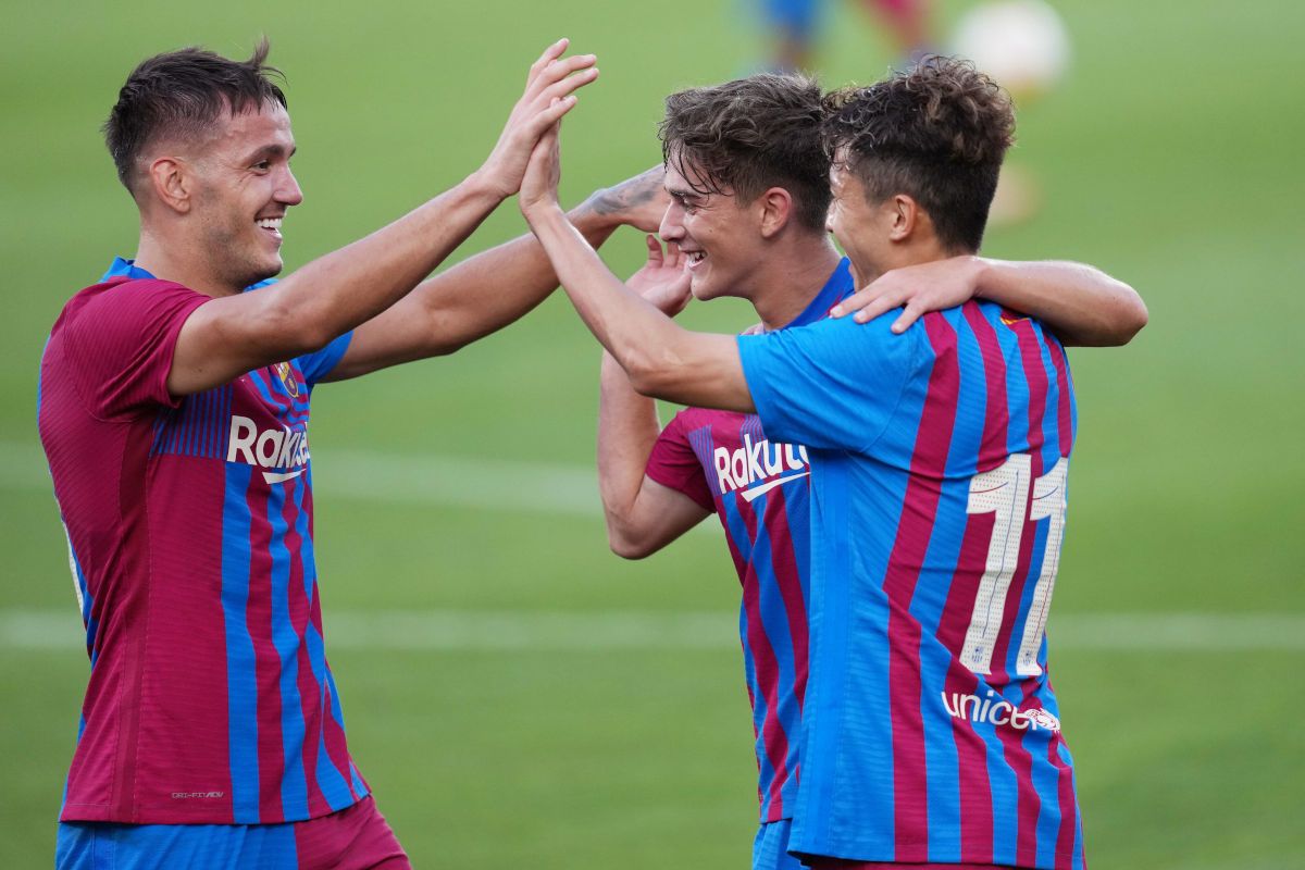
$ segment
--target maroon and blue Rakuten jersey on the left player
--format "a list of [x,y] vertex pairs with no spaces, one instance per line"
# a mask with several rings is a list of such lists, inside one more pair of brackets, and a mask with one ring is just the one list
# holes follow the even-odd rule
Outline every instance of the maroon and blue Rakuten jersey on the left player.
[[367,794],[313,565],[308,400],[348,337],[172,397],[207,296],[119,262],[68,303],[38,391],[91,660],[61,820],[274,823]]

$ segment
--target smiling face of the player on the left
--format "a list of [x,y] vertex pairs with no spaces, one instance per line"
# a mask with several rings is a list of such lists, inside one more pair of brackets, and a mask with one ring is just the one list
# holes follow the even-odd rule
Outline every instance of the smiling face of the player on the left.
[[228,116],[205,146],[196,196],[201,244],[214,273],[232,287],[282,269],[281,222],[304,198],[290,171],[294,153],[290,115],[279,104]]

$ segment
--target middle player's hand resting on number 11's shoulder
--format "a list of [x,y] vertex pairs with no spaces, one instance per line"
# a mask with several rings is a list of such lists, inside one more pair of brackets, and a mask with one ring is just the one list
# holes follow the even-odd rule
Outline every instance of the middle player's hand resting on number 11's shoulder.
[[902,308],[893,331],[903,333],[923,314],[974,299],[981,273],[983,261],[968,254],[893,269],[835,305],[830,316],[852,314],[857,323],[868,323],[883,312]]

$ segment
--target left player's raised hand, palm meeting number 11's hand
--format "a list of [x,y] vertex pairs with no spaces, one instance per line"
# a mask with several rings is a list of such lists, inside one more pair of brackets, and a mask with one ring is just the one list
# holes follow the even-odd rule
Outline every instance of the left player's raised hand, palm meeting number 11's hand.
[[576,106],[574,91],[598,78],[594,55],[562,57],[566,39],[549,46],[526,76],[526,90],[512,107],[489,158],[480,167],[485,184],[504,198],[521,189],[531,151],[547,130]]

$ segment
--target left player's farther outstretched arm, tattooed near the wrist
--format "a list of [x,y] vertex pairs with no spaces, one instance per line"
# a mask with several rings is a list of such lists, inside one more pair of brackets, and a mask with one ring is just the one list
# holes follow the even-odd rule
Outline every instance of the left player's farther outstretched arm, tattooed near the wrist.
[[[664,175],[658,166],[598,190],[568,217],[595,248],[621,224],[651,231],[666,211]],[[326,380],[453,353],[522,317],[556,287],[553,267],[534,236],[501,244],[422,282],[359,326]]]

